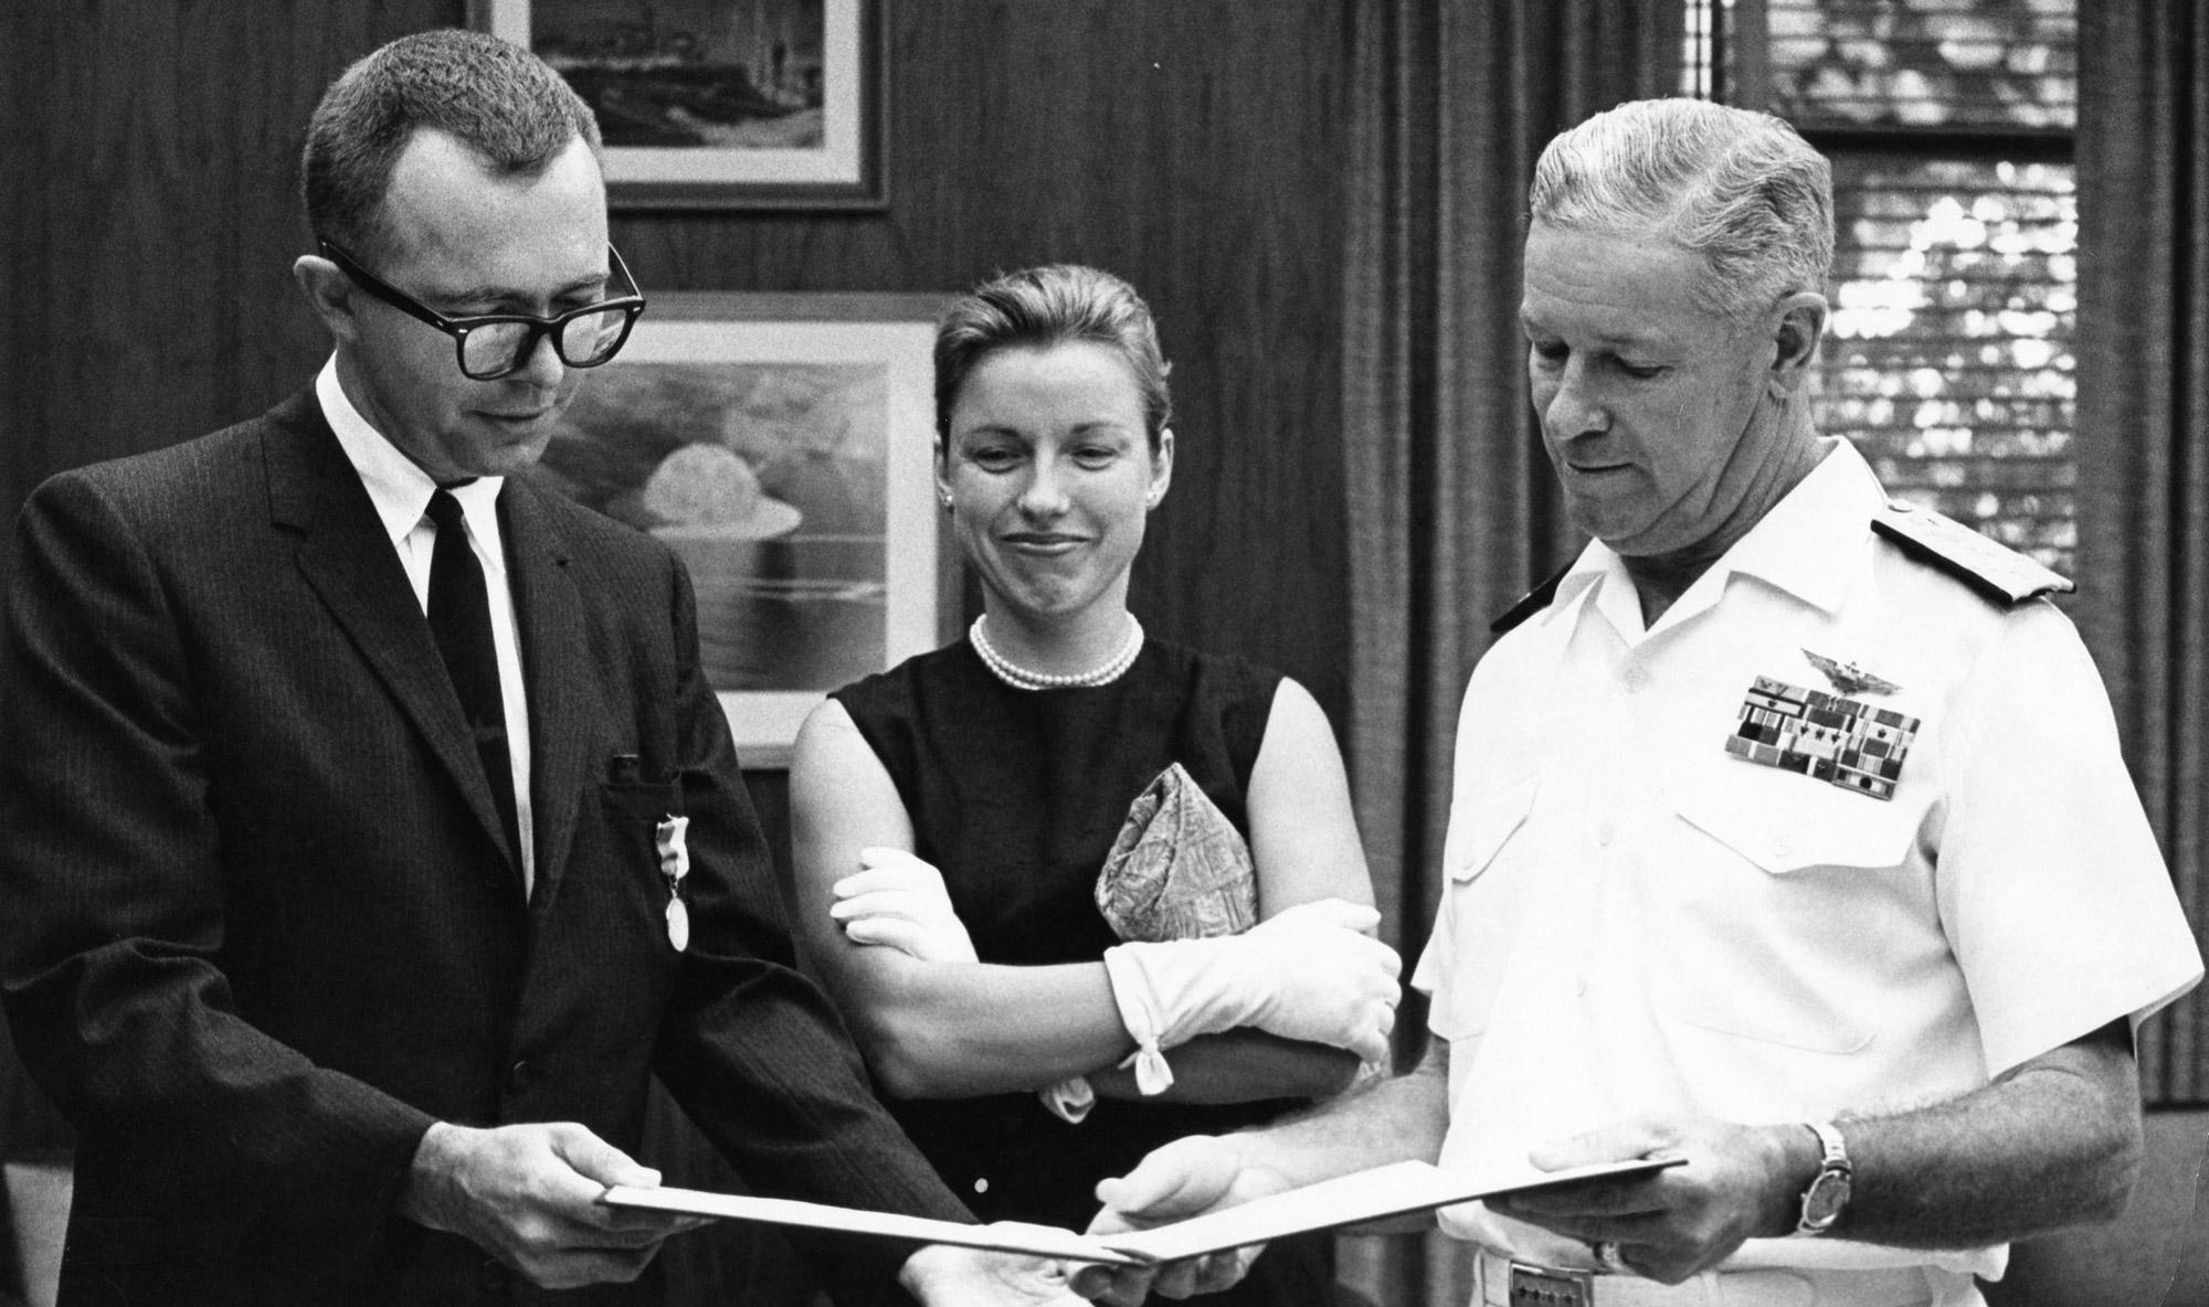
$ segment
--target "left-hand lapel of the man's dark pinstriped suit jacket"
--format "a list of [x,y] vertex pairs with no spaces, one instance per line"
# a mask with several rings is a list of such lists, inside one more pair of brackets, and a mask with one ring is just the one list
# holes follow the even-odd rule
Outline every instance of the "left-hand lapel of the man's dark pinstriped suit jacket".
[[[490,782],[484,779],[484,762],[475,753],[475,737],[446,678],[437,640],[429,634],[406,567],[400,565],[391,536],[384,534],[376,506],[345,459],[338,437],[323,419],[314,391],[278,404],[269,422],[261,442],[269,475],[269,514],[278,528],[300,532],[298,570],[429,740],[431,753],[453,775],[477,821],[506,850],[506,832],[490,801]],[[515,861],[512,850],[506,854]]]

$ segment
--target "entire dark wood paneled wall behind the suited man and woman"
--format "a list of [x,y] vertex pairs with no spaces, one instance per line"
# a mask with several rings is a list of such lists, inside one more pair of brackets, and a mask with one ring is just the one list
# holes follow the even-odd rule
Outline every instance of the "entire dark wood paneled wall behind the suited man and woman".
[[[258,413],[327,338],[292,287],[300,126],[462,0],[0,7],[0,512],[46,475]],[[647,289],[965,287],[1109,267],[1175,360],[1153,631],[1347,693],[1341,0],[890,0],[890,208],[616,214]],[[0,563],[4,565],[4,563]]]

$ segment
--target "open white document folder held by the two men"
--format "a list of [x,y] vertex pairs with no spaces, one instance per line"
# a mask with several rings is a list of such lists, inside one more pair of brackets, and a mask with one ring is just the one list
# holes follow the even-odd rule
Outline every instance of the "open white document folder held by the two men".
[[811,1225],[815,1230],[839,1230],[846,1234],[879,1234],[886,1239],[910,1239],[917,1243],[954,1243],[961,1247],[992,1247],[1001,1252],[1029,1252],[1067,1261],[1096,1261],[1111,1265],[1140,1265],[1180,1261],[1241,1247],[1246,1243],[1268,1243],[1283,1234],[1306,1230],[1332,1230],[1336,1225],[1359,1225],[1405,1212],[1425,1212],[1493,1199],[1509,1192],[1564,1186],[1586,1179],[1635,1177],[1683,1159],[1637,1159],[1604,1161],[1597,1166],[1575,1166],[1571,1170],[1535,1170],[1531,1166],[1511,1175],[1473,1175],[1462,1170],[1440,1170],[1425,1161],[1396,1161],[1356,1175],[1319,1181],[1286,1194],[1257,1199],[1224,1212],[1191,1216],[1155,1230],[1124,1230],[1118,1234],[1076,1234],[1056,1225],[1025,1225],[998,1221],[994,1225],[965,1225],[959,1221],[930,1221],[926,1216],[897,1216],[890,1212],[864,1212],[857,1208],[833,1208],[826,1203],[800,1203],[793,1199],[755,1199],[749,1194],[709,1194],[702,1190],[638,1190],[610,1188],[603,1203],[616,1208],[652,1208],[660,1212],[689,1212],[696,1216],[727,1216],[731,1221],[767,1221],[773,1225]]

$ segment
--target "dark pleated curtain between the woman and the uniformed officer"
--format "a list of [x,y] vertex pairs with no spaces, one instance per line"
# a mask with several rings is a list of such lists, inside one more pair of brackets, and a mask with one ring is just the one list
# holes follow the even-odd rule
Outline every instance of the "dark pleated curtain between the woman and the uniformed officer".
[[[1458,698],[1489,623],[1577,543],[1526,400],[1526,183],[1549,137],[1679,86],[1681,0],[1352,0],[1343,439],[1350,768],[1389,943],[1434,918]],[[1416,1051],[1425,1011],[1398,1020]],[[1462,1307],[1465,1250],[1345,1239],[1389,1307]]]

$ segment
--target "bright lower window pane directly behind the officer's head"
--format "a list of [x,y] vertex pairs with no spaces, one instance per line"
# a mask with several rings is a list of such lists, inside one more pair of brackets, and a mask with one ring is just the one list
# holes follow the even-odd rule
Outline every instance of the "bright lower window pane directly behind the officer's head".
[[2072,168],[1840,155],[1833,208],[1818,428],[1891,495],[2068,572]]

